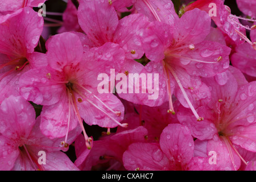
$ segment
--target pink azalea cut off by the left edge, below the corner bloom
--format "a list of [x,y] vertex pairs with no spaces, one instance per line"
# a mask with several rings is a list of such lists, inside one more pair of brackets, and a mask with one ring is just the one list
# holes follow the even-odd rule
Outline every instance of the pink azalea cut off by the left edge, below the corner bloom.
[[[0,103],[11,94],[19,95],[22,73],[37,65],[34,48],[43,30],[43,18],[30,7],[0,16]],[[40,64],[40,63],[39,63]]]

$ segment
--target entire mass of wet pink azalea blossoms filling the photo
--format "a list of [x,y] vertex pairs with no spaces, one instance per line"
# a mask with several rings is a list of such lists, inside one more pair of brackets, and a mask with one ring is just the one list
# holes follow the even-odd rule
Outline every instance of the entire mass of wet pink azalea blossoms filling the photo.
[[[222,0],[68,0],[47,38],[46,0],[0,2],[0,170],[256,170],[256,2],[236,2],[244,16]],[[158,75],[158,97],[141,77],[119,92],[130,73]]]

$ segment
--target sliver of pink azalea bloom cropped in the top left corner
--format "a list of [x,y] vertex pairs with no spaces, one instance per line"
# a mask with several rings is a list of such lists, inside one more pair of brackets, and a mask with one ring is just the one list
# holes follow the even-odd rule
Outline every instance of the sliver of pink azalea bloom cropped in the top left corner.
[[6,0],[0,2],[0,13],[7,14],[23,7],[38,7],[47,0]]

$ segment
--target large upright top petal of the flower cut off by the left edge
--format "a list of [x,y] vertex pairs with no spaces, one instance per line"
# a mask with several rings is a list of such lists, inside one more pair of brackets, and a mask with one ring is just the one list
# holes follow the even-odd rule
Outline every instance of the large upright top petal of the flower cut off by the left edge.
[[0,52],[17,58],[26,57],[27,53],[34,52],[38,44],[43,31],[43,18],[30,7],[25,7],[18,15],[14,15],[0,24],[0,36],[3,37]]

